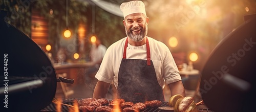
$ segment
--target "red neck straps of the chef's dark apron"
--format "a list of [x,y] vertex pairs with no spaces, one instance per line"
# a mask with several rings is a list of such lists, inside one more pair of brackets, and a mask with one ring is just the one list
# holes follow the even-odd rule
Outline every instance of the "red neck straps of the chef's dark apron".
[[[124,49],[123,49],[123,59],[126,59],[126,48],[128,46],[128,38],[126,38],[125,43],[124,43]],[[146,37],[146,61],[147,65],[151,65],[151,59],[150,59],[150,43],[148,43],[148,39]]]

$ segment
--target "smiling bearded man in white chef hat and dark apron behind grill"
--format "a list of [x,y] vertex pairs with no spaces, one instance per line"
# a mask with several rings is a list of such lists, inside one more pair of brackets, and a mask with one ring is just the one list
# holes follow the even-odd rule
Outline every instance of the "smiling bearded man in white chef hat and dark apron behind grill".
[[168,47],[147,37],[149,18],[141,1],[122,3],[127,37],[113,43],[106,51],[95,78],[93,97],[105,98],[110,83],[116,87],[117,98],[125,101],[164,101],[163,88],[185,96],[177,65]]

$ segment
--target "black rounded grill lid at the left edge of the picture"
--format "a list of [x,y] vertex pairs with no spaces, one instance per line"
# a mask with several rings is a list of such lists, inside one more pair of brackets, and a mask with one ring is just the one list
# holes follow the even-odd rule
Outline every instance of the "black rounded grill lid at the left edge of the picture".
[[[56,91],[56,73],[49,58],[27,35],[5,22],[0,12],[1,57],[8,57],[8,76],[1,75],[1,111],[38,111],[51,103]],[[7,60],[6,60],[7,61]],[[2,71],[4,64],[2,64]],[[5,71],[4,71],[5,72]],[[3,83],[8,83],[8,94]],[[8,108],[3,101],[8,96]]]

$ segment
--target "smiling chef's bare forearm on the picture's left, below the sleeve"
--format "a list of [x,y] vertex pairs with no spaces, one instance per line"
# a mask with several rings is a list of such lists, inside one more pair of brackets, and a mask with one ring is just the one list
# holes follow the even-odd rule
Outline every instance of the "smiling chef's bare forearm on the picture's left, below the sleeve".
[[93,92],[93,98],[106,98],[106,94],[108,94],[110,88],[110,83],[106,83],[103,81],[98,81]]

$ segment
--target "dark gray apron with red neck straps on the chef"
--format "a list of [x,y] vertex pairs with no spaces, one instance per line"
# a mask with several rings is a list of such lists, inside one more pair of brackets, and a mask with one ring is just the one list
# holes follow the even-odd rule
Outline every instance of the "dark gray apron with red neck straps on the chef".
[[126,59],[128,37],[124,44],[123,59],[118,73],[117,97],[125,101],[164,101],[155,68],[150,58],[150,46],[146,38],[147,60]]

